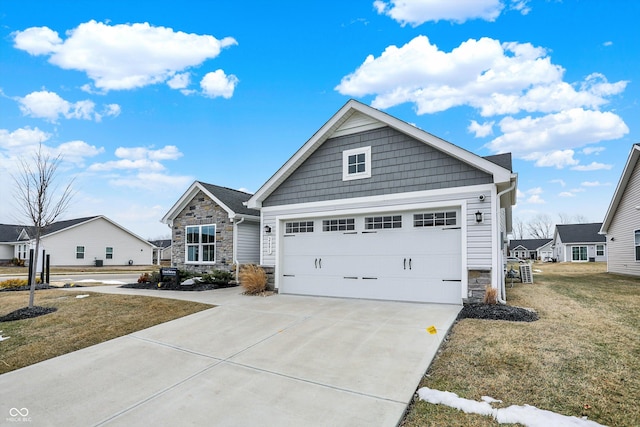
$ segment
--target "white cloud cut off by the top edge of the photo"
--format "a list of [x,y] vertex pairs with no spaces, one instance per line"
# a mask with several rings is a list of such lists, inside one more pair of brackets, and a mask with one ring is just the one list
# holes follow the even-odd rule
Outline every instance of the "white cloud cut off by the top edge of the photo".
[[427,21],[494,21],[504,7],[500,0],[376,0],[373,6],[379,14],[414,27]]

